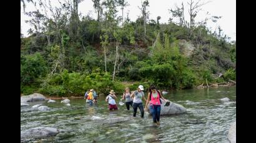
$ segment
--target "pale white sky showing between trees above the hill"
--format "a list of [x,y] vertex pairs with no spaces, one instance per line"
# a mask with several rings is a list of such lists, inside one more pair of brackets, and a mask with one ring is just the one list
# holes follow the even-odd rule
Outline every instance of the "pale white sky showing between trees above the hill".
[[[160,23],[168,23],[171,14],[169,9],[174,9],[175,4],[181,6],[181,3],[184,3],[185,9],[185,19],[189,21],[189,7],[187,2],[190,0],[149,0],[149,19],[154,19],[156,21],[157,16],[160,16]],[[207,2],[207,0],[201,0],[202,2]],[[129,18],[131,21],[135,21],[138,16],[140,16],[141,6],[140,0],[127,0],[129,6],[124,9],[124,17],[129,13]],[[57,4],[57,0],[51,0],[52,5]],[[22,6],[22,3],[21,3]],[[195,21],[201,21],[205,19],[206,13],[209,12],[210,16],[222,16],[217,23],[210,22],[207,24],[207,27],[213,31],[220,26],[223,29],[224,35],[226,34],[230,37],[230,40],[236,40],[236,1],[235,0],[211,0],[209,3],[201,7],[202,11],[199,12]],[[26,12],[34,11],[34,6],[32,4],[27,4]],[[119,9],[119,16],[122,16],[121,9]],[[79,3],[78,7],[79,13],[81,12],[82,16],[89,14],[90,16],[96,18],[97,14],[94,11],[92,0],[84,0]],[[29,20],[29,17],[24,15],[23,10],[21,9],[21,33],[27,37],[27,30],[31,28],[31,25],[27,24],[25,21]]]

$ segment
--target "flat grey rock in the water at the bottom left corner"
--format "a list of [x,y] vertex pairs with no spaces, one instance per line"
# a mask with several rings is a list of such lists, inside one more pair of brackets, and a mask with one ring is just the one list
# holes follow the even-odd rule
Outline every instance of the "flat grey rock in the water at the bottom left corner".
[[35,127],[21,131],[21,140],[27,138],[41,138],[46,136],[53,136],[59,133],[59,130],[54,127]]

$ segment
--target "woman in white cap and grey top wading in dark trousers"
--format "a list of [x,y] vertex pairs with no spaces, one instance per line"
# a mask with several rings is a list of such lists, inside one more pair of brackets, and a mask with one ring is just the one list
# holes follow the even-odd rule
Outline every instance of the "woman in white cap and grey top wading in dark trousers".
[[144,109],[143,109],[143,104],[142,104],[142,98],[144,98],[145,101],[147,101],[147,100],[145,99],[143,90],[144,90],[143,86],[140,85],[138,90],[134,91],[132,93],[132,95],[130,95],[131,98],[134,98],[133,105],[132,105],[132,108],[134,108],[134,117],[136,116],[137,108],[139,107],[140,117],[144,118]]

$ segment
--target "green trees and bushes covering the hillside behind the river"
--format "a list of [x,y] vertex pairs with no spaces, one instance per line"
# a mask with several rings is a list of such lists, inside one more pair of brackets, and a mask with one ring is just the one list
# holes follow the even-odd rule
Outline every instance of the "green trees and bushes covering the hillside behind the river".
[[[205,80],[211,84],[236,79],[236,43],[229,42],[220,28],[219,32],[207,29],[206,21],[185,21],[184,9],[172,10],[179,22],[170,19],[169,24],[159,24],[160,16],[157,22],[147,19],[147,1],[141,7],[142,17],[134,22],[117,16],[126,1],[93,1],[97,19],[77,18],[78,5],[73,3],[54,9],[40,2],[57,17],[44,11],[26,12],[36,31],[30,29],[31,35],[21,38],[24,95],[82,96],[91,88],[120,94],[124,82],[133,83],[131,90],[152,83],[162,89],[186,89]],[[220,73],[224,76],[218,78]]]

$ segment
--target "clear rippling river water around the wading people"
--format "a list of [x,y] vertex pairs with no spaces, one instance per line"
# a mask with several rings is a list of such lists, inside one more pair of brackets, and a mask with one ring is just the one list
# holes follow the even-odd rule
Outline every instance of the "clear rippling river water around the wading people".
[[[219,100],[225,97],[230,101]],[[71,99],[71,106],[61,101],[43,103],[51,110],[21,107],[21,131],[39,126],[61,131],[41,142],[227,142],[230,123],[236,118],[235,97],[235,86],[170,91],[165,98],[182,104],[187,113],[161,116],[160,126],[154,126],[150,116],[141,119],[139,109],[132,118],[132,110],[127,111],[125,105],[110,112],[105,97],[100,97],[96,106],[83,99]],[[26,142],[34,141],[38,140]]]

